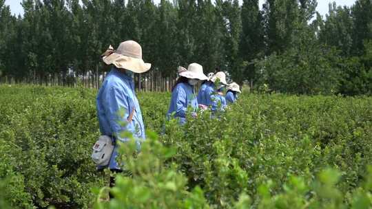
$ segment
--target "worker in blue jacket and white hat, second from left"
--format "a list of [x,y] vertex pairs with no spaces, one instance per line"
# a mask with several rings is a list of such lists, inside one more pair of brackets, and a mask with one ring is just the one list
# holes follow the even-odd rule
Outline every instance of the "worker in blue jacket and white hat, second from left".
[[178,67],[179,78],[172,88],[172,98],[169,104],[167,117],[170,119],[173,115],[174,118],[180,120],[180,124],[186,122],[187,108],[191,107],[196,115],[198,109],[198,100],[194,94],[194,86],[202,80],[208,80],[207,76],[203,73],[203,67],[198,63],[192,63],[185,69]]

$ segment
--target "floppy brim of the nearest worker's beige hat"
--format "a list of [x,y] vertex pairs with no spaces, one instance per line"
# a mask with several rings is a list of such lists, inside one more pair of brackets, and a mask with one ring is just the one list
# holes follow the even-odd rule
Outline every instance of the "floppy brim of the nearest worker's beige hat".
[[133,58],[117,53],[105,56],[102,60],[107,65],[115,65],[119,69],[127,69],[137,74],[147,72],[151,68],[151,64],[145,63],[141,58]]

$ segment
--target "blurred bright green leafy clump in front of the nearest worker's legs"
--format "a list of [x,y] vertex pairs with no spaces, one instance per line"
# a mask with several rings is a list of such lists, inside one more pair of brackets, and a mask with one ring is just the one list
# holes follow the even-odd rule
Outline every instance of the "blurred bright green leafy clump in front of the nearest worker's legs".
[[175,164],[165,164],[174,155],[158,141],[156,133],[147,133],[141,153],[136,153],[134,140],[121,144],[121,160],[132,177],[116,175],[112,188],[114,199],[97,201],[96,208],[208,208],[203,191],[187,191],[187,178]]

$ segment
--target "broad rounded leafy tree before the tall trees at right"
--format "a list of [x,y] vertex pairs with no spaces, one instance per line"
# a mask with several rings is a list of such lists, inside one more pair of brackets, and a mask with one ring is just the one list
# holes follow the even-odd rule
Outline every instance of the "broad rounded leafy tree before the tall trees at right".
[[341,74],[335,50],[304,43],[282,54],[272,54],[256,63],[260,85],[291,94],[335,94]]

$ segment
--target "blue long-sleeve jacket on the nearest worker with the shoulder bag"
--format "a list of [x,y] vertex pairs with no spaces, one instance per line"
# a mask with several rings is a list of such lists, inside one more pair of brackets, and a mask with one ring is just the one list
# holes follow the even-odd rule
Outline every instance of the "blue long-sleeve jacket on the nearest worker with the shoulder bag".
[[[129,131],[136,139],[145,140],[145,125],[134,92],[132,77],[113,67],[99,89],[96,105],[99,129],[102,135],[109,135],[116,140],[126,142],[127,139],[120,137],[120,133]],[[132,111],[134,111],[132,121],[127,121]],[[139,149],[139,140],[137,140],[137,146]],[[116,163],[117,149],[118,145],[116,144],[110,159],[110,169],[121,169]]]

